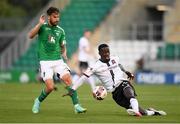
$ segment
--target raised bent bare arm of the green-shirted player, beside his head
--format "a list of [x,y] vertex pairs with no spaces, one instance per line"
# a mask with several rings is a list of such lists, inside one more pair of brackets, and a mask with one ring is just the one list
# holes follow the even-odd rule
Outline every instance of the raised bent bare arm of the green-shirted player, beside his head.
[[30,39],[34,38],[38,34],[39,29],[44,22],[45,22],[45,15],[41,15],[41,17],[39,18],[39,23],[36,24],[36,26],[28,34]]

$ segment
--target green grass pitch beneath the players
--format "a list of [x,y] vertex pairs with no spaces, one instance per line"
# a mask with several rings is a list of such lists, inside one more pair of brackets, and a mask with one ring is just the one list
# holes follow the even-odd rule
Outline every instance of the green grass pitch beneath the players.
[[180,85],[136,85],[138,100],[142,107],[154,107],[167,112],[167,116],[128,116],[111,94],[103,101],[92,97],[85,84],[78,89],[80,102],[87,113],[75,114],[66,92],[57,84],[58,91],[51,93],[41,104],[38,114],[31,112],[33,100],[40,94],[44,84],[0,84],[0,123],[180,123]]

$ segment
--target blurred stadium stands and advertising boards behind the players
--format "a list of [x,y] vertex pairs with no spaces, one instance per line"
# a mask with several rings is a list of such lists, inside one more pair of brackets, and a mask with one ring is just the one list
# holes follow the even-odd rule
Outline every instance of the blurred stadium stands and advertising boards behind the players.
[[37,38],[30,29],[50,6],[61,11],[68,65],[76,71],[78,41],[85,29],[90,44],[107,43],[111,54],[136,74],[136,83],[180,84],[179,0],[1,0],[0,83],[39,80]]

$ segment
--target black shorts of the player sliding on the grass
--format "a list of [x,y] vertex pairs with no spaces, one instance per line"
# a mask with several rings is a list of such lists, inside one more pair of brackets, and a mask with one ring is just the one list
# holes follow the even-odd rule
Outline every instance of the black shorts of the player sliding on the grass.
[[[128,90],[128,92],[130,92],[129,94],[125,94],[124,90]],[[129,97],[127,97],[129,96]],[[129,81],[123,81],[116,89],[114,92],[112,92],[112,97],[114,99],[114,101],[126,108],[129,109],[130,108],[130,98],[135,98],[136,93],[135,93],[135,89],[134,87],[130,84]]]

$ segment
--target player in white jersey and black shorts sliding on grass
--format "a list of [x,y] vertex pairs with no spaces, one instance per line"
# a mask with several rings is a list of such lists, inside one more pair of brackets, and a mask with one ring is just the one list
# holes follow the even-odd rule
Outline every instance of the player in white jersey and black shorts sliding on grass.
[[[166,115],[164,111],[157,111],[152,108],[142,109],[136,99],[134,87],[123,76],[125,73],[131,80],[134,78],[134,75],[123,68],[117,56],[110,57],[110,50],[107,44],[99,45],[98,51],[100,59],[96,61],[93,67],[88,68],[84,72],[84,75],[72,86],[73,90],[81,86],[86,78],[95,75],[100,79],[107,91],[112,93],[114,101],[121,107],[126,108],[129,115]],[[72,93],[69,92],[69,95]]]

